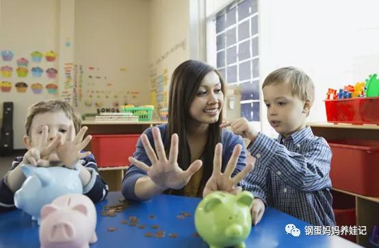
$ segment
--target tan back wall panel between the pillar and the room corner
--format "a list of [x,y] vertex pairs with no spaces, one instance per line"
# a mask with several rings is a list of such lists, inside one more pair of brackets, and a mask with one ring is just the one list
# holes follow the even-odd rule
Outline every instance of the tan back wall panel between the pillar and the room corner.
[[81,113],[117,104],[149,104],[148,6],[147,0],[75,1]]

